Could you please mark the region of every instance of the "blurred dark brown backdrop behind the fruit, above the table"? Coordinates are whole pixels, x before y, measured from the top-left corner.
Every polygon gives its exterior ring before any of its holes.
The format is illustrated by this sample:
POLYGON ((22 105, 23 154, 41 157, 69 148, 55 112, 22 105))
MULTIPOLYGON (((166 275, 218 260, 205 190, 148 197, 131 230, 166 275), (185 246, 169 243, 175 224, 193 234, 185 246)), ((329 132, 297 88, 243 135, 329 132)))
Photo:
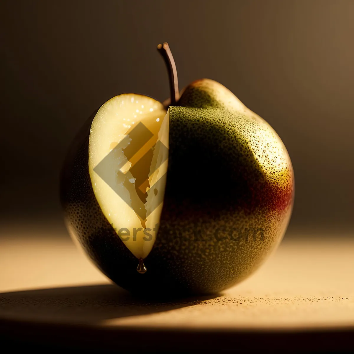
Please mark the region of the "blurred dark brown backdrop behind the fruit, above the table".
POLYGON ((291 228, 353 229, 354 1, 2 1, 0 16, 3 219, 61 220, 70 141, 112 96, 168 96, 168 41, 181 88, 221 82, 284 141, 291 228))

